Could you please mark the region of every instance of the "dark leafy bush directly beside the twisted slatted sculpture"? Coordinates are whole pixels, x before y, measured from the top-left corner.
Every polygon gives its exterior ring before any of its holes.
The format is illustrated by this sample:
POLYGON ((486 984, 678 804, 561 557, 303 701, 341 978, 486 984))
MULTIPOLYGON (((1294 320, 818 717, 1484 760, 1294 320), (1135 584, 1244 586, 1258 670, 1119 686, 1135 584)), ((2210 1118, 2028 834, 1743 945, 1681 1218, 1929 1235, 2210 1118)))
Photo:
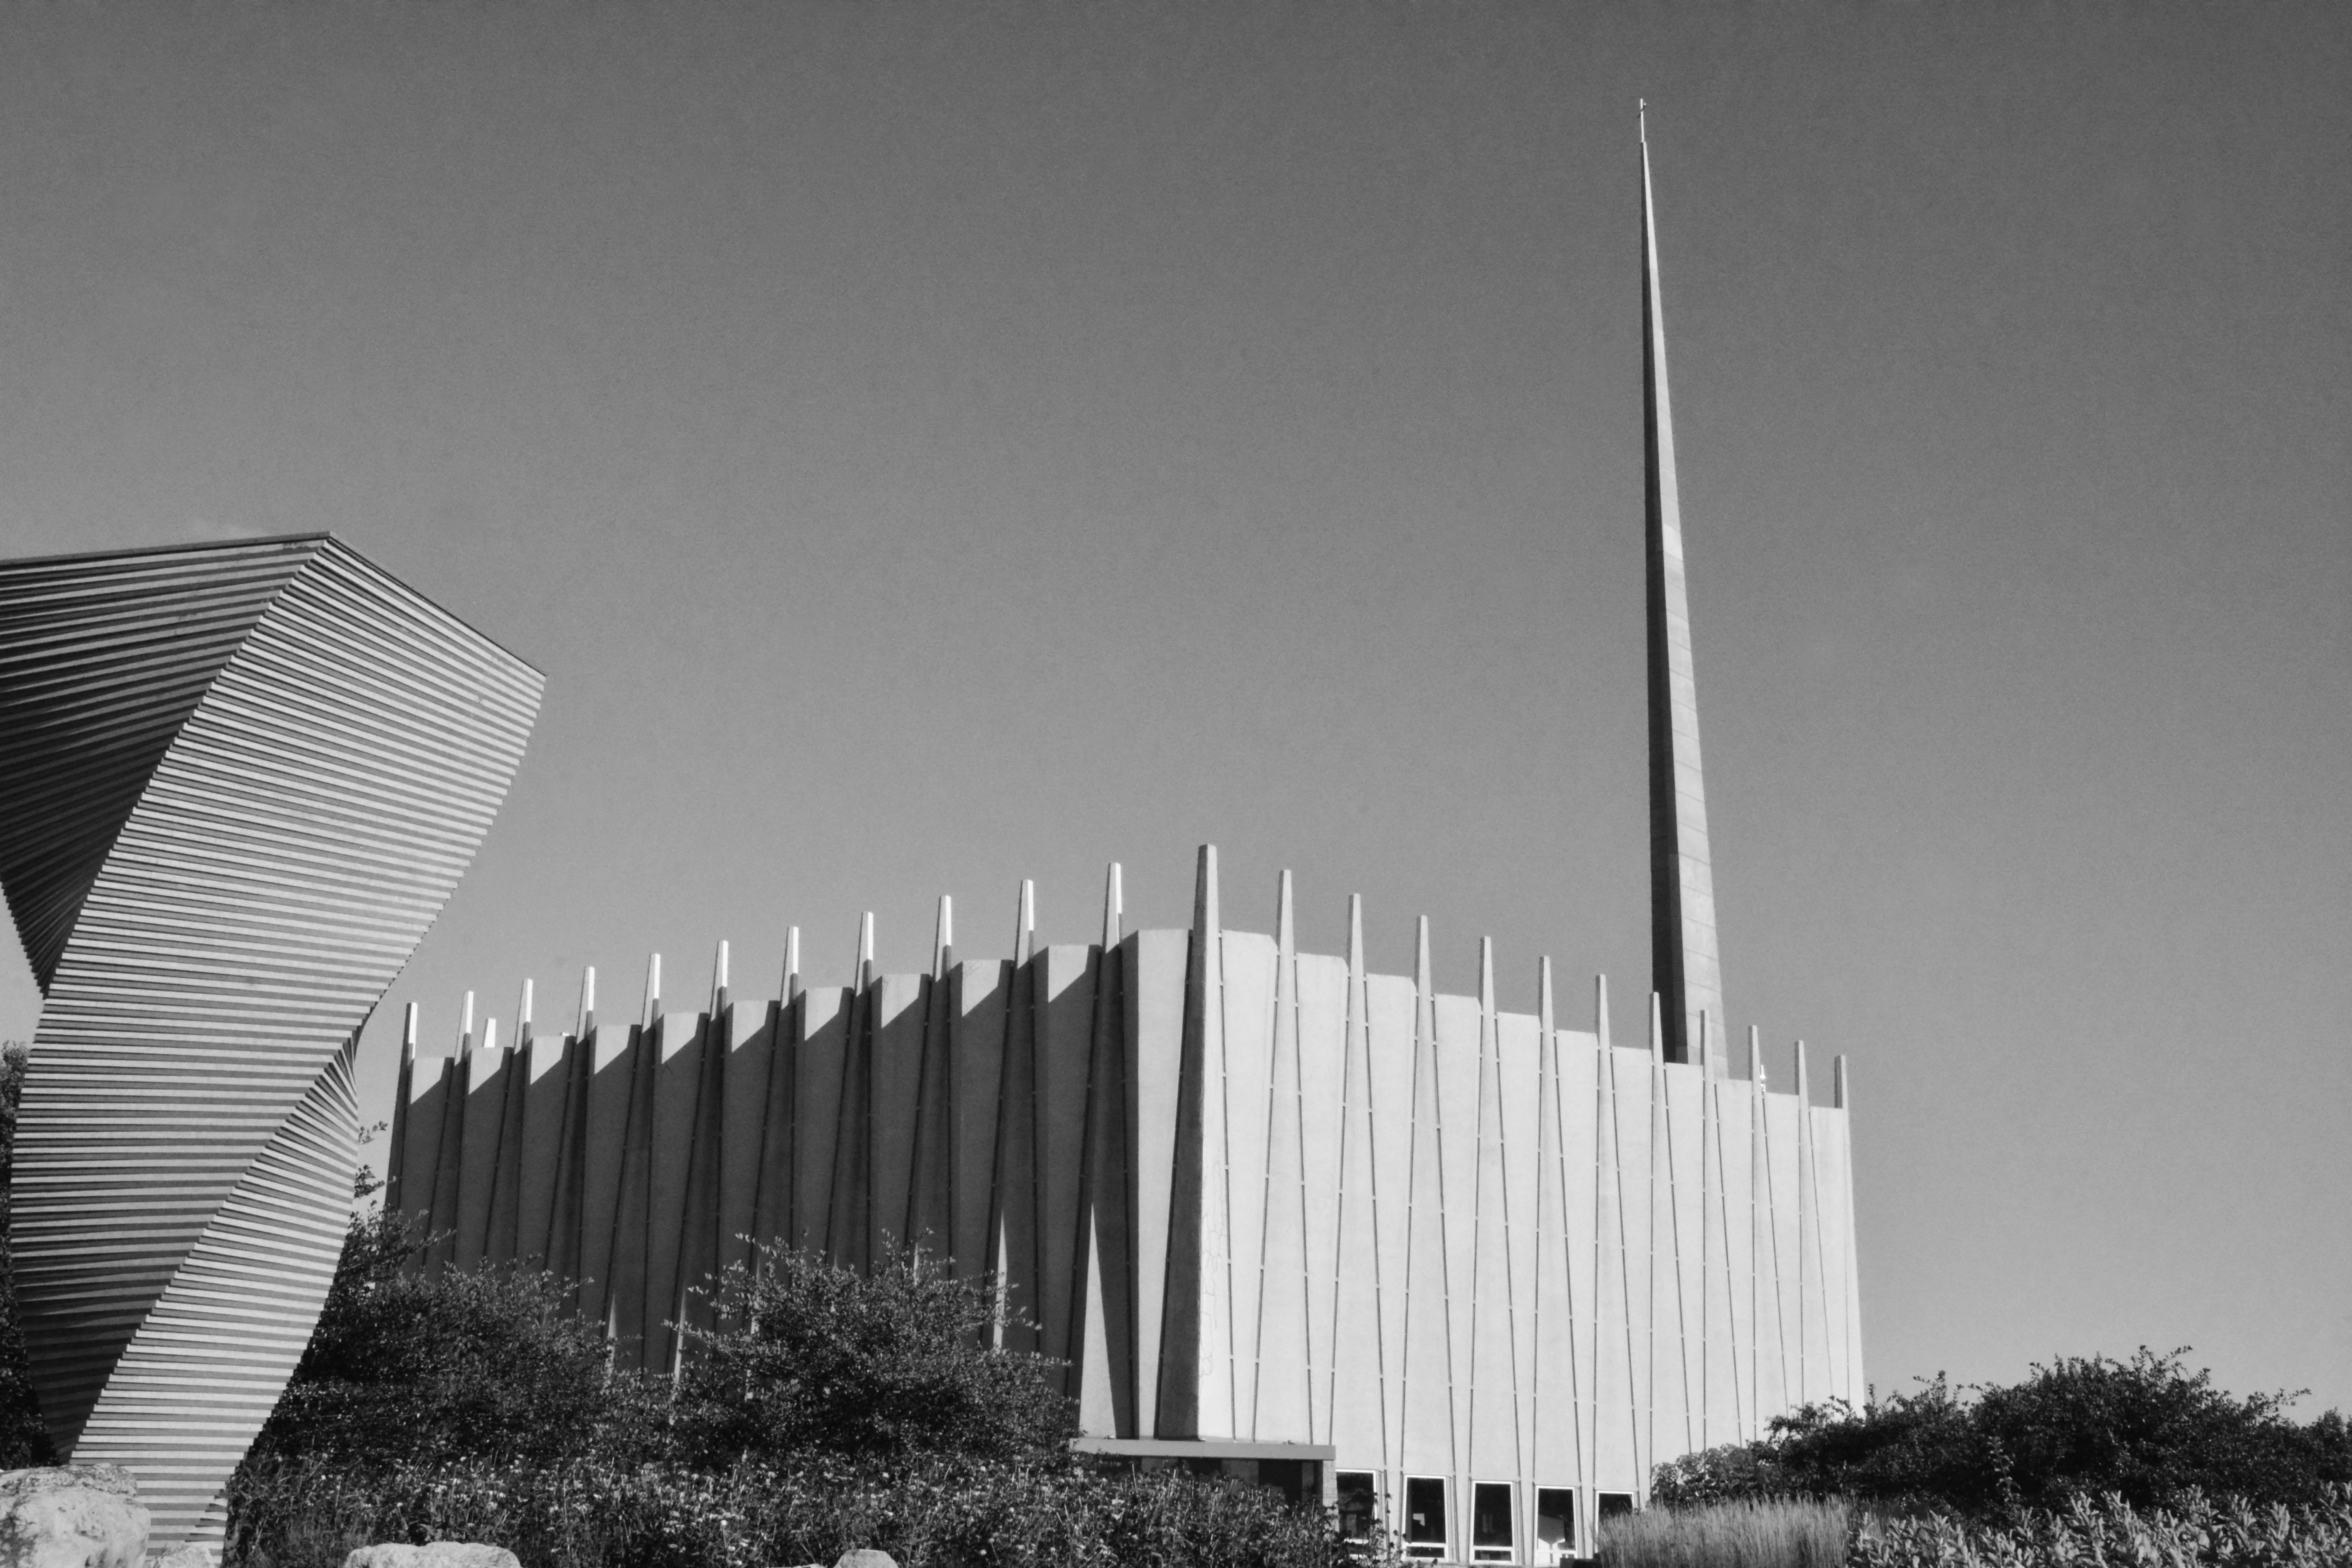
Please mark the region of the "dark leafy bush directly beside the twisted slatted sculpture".
POLYGON ((402 1274, 426 1237, 353 1218, 318 1328, 254 1462, 555 1460, 644 1450, 659 1394, 614 1378, 604 1335, 548 1274, 402 1274))

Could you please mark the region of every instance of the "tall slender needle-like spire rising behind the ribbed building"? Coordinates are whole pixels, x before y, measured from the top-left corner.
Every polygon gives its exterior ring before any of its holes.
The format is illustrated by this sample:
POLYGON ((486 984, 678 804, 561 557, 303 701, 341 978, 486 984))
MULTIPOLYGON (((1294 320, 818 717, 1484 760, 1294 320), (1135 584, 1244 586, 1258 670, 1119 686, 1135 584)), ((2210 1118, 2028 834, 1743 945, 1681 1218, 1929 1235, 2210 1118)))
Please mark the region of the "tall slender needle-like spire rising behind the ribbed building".
POLYGON ((1649 552, 1649 966, 1665 1011, 1665 1060, 1705 1051, 1722 1074, 1724 983, 1715 954, 1715 870, 1708 792, 1698 776, 1698 682, 1682 569, 1675 416, 1665 393, 1665 310, 1658 299, 1658 212, 1642 118, 1642 491, 1649 552), (1710 1016, 1700 1025, 1700 1016, 1710 1016))

